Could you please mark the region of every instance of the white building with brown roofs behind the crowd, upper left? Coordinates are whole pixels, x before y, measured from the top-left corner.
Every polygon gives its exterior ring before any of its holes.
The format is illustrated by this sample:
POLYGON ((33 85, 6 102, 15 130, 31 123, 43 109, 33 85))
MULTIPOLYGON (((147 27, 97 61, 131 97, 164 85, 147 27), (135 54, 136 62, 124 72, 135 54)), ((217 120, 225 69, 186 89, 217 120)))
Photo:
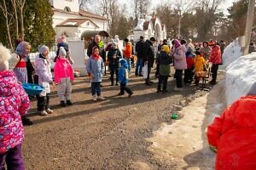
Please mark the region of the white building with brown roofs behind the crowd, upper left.
POLYGON ((56 37, 66 35, 67 40, 84 39, 89 32, 107 32, 108 19, 99 14, 81 10, 79 0, 49 0, 54 16, 56 37))

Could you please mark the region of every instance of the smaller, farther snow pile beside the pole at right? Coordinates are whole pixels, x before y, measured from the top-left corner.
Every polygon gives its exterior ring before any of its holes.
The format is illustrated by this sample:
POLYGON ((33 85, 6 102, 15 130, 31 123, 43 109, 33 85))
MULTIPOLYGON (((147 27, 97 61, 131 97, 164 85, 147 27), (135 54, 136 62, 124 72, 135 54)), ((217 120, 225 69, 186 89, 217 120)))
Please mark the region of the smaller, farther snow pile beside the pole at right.
POLYGON ((239 42, 239 37, 236 38, 234 42, 231 42, 226 48, 224 48, 223 53, 223 65, 227 67, 234 60, 239 58, 242 55, 241 46, 239 42))

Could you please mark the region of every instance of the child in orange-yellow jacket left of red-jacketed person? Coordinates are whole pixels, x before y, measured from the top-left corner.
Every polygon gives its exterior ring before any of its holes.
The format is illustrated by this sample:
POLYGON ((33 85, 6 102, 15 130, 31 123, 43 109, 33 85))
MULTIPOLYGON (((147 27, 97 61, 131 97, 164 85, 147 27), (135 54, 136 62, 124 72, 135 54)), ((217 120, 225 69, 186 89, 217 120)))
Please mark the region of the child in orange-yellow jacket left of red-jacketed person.
POLYGON ((200 81, 200 77, 198 77, 198 72, 204 71, 206 65, 206 59, 201 55, 199 51, 195 51, 194 58, 194 67, 195 67, 195 85, 197 86, 200 81))

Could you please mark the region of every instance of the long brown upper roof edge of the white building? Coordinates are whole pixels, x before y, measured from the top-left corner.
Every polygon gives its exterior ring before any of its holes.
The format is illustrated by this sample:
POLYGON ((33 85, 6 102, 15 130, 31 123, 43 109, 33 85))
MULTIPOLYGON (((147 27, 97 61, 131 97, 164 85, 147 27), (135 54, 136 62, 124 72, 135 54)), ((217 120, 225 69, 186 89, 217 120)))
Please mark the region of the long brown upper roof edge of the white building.
POLYGON ((84 11, 82 9, 80 9, 79 12, 73 12, 73 11, 67 12, 64 9, 53 8, 53 11, 59 12, 59 13, 64 13, 64 14, 74 14, 74 15, 84 16, 84 17, 88 17, 88 18, 95 18, 95 19, 100 19, 100 20, 108 20, 107 18, 102 17, 99 14, 93 14, 88 11, 84 11))

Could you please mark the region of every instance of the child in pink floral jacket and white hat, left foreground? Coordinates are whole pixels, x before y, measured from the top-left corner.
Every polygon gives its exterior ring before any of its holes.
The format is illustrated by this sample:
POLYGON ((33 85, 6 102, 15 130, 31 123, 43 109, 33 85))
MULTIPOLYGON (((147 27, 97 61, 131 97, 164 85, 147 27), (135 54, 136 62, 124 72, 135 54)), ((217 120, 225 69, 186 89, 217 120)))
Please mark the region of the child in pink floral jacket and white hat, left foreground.
POLYGON ((18 83, 14 71, 9 70, 9 49, 0 45, 0 169, 24 170, 21 144, 24 129, 21 116, 28 111, 29 99, 18 83))

